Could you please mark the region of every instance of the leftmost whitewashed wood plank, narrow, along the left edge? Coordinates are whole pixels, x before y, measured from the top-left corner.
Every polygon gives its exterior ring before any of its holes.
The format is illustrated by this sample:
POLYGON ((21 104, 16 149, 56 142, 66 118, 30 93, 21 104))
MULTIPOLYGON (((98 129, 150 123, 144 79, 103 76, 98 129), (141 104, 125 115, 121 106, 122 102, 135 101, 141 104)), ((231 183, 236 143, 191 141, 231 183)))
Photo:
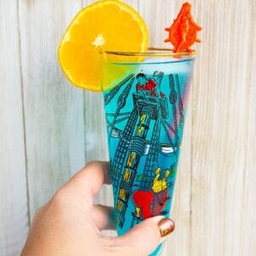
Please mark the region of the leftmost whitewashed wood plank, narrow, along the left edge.
POLYGON ((18 255, 28 230, 18 7, 0 1, 0 255, 18 255))

